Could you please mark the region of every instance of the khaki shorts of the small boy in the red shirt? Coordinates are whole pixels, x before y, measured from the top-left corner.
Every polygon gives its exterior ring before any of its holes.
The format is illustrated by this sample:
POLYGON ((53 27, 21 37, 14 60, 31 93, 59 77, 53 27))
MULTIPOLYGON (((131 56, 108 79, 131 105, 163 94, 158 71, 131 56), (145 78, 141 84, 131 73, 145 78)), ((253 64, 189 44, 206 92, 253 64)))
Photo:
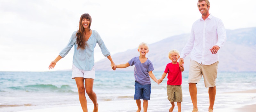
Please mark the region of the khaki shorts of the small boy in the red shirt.
POLYGON ((167 96, 170 102, 182 102, 182 90, 181 85, 168 85, 167 84, 167 96))

